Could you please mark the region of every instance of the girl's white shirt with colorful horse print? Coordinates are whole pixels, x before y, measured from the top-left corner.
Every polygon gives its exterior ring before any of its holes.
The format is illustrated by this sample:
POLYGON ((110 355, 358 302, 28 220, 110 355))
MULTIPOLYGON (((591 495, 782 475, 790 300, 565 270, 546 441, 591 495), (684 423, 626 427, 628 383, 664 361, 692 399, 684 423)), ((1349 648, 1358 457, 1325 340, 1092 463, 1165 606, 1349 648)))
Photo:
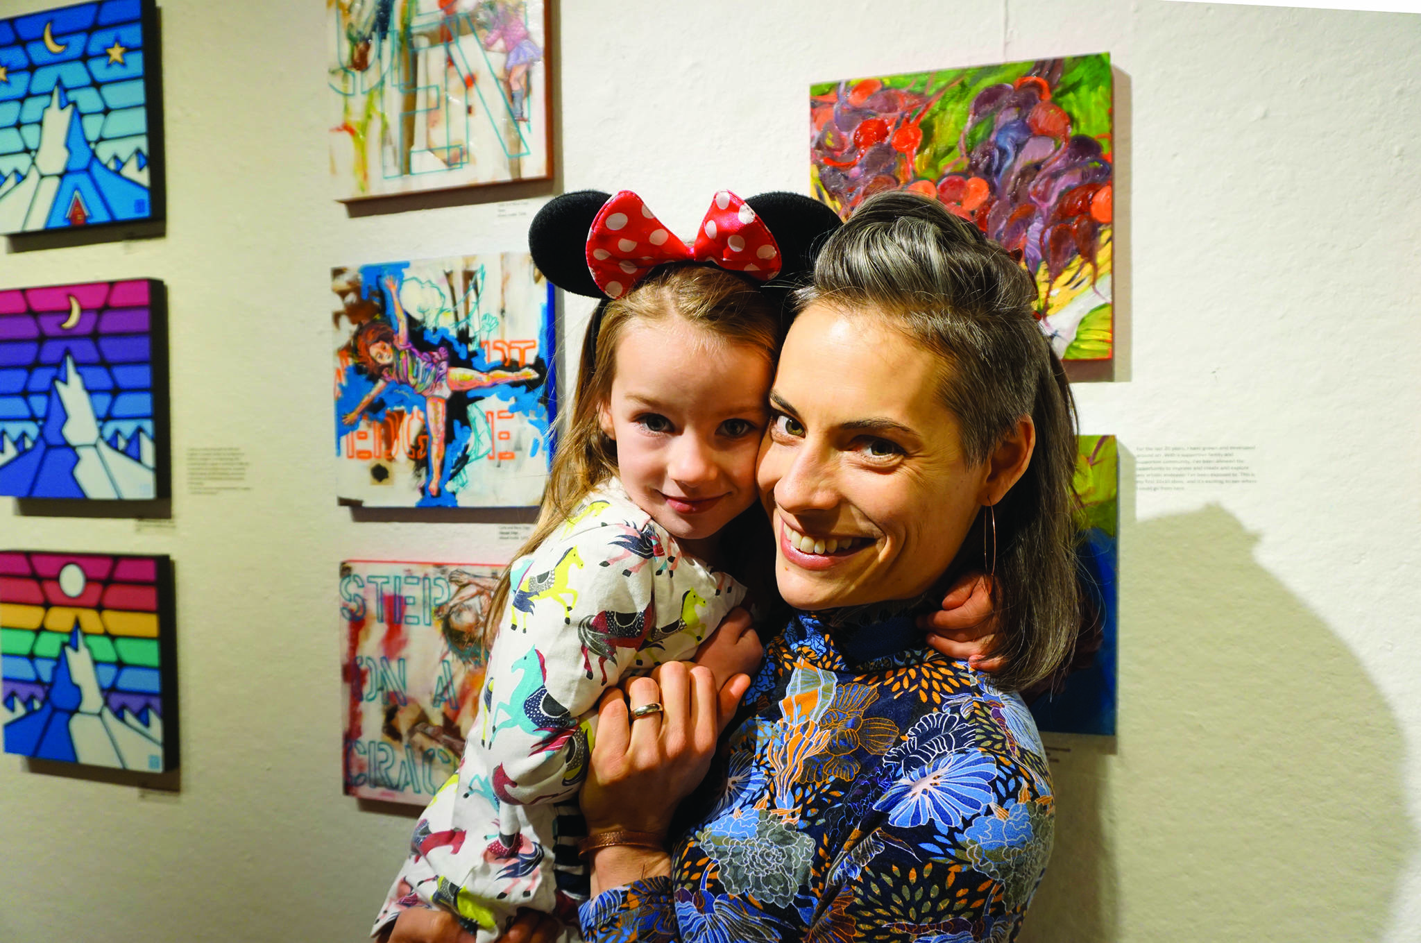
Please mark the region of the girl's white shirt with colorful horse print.
POLYGON ((556 805, 576 801, 587 775, 598 699, 691 659, 745 599, 728 574, 684 557, 615 480, 513 561, 510 584, 463 760, 419 818, 375 933, 428 905, 453 910, 480 943, 520 907, 577 926, 578 822, 556 805))

